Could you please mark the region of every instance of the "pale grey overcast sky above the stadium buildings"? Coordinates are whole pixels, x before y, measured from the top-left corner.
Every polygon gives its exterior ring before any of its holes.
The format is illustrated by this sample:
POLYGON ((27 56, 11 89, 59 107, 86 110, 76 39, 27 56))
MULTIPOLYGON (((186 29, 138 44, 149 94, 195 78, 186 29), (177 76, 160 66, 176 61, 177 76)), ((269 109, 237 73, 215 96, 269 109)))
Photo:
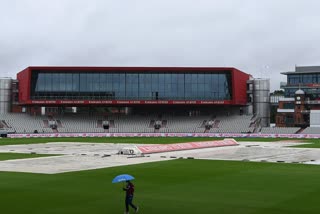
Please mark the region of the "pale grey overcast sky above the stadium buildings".
POLYGON ((320 65, 318 0, 0 0, 0 76, 28 66, 320 65))

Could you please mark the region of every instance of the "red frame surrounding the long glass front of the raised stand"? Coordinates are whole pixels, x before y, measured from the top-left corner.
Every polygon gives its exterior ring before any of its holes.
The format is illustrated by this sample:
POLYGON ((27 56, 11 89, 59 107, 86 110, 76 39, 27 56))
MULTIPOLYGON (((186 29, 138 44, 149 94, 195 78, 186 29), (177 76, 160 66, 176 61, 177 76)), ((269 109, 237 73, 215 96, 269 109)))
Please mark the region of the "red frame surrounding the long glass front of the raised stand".
POLYGON ((250 75, 231 67, 28 67, 17 74, 20 105, 246 105, 250 75), (231 72, 232 100, 31 100, 32 71, 48 72, 231 72))

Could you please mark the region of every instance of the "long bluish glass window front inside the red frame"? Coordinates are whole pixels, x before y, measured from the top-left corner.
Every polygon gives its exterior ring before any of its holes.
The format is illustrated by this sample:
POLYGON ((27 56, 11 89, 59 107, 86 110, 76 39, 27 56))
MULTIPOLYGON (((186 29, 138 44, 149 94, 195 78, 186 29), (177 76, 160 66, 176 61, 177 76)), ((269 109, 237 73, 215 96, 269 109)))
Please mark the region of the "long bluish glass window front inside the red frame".
POLYGON ((231 72, 33 72, 38 100, 231 100, 231 72))

